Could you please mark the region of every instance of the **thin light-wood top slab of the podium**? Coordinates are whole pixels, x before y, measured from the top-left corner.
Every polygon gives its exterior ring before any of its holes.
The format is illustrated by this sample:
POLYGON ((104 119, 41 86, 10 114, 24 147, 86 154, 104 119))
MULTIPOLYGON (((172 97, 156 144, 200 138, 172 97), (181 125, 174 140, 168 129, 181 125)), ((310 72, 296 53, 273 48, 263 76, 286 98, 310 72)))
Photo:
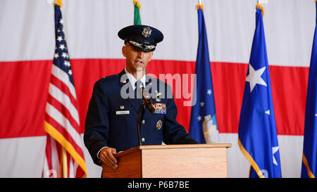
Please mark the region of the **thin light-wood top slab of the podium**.
POLYGON ((139 150, 153 150, 153 149, 175 149, 175 148, 230 148, 231 143, 213 143, 213 144, 185 144, 185 145, 154 145, 154 146, 137 146, 135 148, 130 148, 126 151, 120 151, 116 158, 123 156, 128 153, 133 153, 139 150))

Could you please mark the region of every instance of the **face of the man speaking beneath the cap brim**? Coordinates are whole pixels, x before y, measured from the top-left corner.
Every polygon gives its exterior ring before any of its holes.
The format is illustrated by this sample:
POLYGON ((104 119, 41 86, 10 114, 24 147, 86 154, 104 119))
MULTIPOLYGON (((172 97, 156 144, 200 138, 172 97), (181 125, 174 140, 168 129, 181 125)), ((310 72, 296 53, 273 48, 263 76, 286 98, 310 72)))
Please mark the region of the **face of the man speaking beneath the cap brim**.
POLYGON ((144 74, 147 64, 153 56, 153 51, 135 49, 130 44, 125 44, 125 46, 123 46, 122 53, 126 58, 125 68, 130 73, 142 71, 142 74, 144 74))

